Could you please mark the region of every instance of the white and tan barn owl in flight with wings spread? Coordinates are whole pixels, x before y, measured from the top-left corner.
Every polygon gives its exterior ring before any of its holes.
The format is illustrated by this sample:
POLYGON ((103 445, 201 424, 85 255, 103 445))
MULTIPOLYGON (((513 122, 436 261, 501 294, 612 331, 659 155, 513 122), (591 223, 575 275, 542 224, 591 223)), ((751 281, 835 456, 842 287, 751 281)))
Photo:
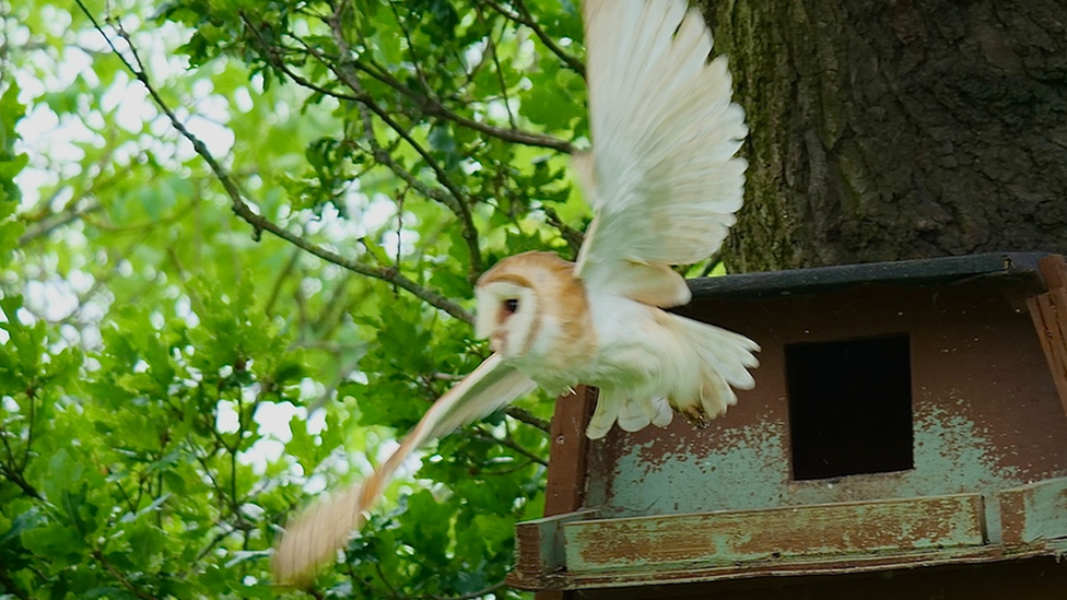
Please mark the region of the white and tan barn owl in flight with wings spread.
POLYGON ((476 333, 493 354, 438 399, 362 484, 313 506, 288 527, 274 556, 281 579, 302 580, 336 555, 391 474, 427 440, 536 386, 600 389, 593 439, 667 426, 675 411, 697 426, 750 389, 751 340, 672 315, 690 291, 671 264, 711 256, 741 207, 748 133, 730 99, 725 57, 685 0, 585 0, 593 150, 574 168, 595 216, 577 261, 550 252, 506 258, 476 286, 476 333))

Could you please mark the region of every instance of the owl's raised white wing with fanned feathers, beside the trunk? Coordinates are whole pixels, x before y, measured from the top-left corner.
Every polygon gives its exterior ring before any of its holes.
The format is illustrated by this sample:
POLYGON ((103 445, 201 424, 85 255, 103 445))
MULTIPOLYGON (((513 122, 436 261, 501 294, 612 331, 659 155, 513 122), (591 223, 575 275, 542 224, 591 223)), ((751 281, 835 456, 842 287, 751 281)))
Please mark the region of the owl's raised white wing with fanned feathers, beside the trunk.
POLYGON ((670 264, 715 252, 743 201, 748 133, 726 58, 685 0, 585 0, 595 210, 577 277, 655 306, 689 302, 670 264))

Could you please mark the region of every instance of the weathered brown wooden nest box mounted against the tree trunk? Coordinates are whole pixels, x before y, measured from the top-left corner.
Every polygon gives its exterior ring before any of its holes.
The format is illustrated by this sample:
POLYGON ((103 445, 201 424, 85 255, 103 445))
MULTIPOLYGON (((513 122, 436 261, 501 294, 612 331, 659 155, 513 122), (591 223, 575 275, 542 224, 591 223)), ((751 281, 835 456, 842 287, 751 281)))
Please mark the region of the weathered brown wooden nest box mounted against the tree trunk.
POLYGON ((1065 598, 1067 268, 996 254, 691 282, 763 348, 706 430, 561 399, 538 598, 1065 598), (723 596, 718 596, 722 593, 723 596))

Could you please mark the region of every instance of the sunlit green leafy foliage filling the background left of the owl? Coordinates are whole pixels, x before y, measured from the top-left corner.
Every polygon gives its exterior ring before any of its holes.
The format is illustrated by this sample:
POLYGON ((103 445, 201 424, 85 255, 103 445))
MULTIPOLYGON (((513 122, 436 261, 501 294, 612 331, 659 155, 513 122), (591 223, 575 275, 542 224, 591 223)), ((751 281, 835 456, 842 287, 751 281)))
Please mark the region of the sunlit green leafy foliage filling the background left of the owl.
POLYGON ((85 5, 210 156, 77 4, 0 1, 0 599, 518 597, 547 398, 427 448, 312 589, 269 553, 484 358, 481 271, 573 256, 576 3, 85 5))

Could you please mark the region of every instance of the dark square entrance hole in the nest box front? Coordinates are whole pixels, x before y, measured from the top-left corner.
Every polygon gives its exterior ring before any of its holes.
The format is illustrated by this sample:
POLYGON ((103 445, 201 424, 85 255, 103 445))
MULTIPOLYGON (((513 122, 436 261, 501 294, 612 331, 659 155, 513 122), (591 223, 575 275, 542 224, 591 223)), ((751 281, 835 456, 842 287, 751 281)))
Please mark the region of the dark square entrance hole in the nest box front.
POLYGON ((914 467, 907 334, 785 349, 793 478, 914 467))

